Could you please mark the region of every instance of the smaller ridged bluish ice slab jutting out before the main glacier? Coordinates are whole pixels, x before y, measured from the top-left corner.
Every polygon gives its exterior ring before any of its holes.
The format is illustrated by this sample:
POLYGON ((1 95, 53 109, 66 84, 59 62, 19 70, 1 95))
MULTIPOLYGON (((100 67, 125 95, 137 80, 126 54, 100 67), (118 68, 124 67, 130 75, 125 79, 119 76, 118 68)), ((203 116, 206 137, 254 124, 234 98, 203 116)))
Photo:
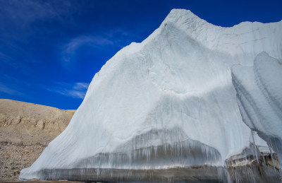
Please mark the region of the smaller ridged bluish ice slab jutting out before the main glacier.
POLYGON ((282 167, 282 61, 262 52, 254 66, 232 67, 243 122, 278 155, 282 167))

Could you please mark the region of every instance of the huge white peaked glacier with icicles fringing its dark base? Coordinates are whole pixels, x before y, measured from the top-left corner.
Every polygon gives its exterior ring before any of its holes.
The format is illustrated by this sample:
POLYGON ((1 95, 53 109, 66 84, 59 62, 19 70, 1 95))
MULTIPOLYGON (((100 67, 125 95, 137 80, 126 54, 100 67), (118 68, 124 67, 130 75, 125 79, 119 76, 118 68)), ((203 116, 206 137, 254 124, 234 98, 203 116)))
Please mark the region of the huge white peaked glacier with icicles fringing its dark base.
MULTIPOLYGON (((269 148, 243 122, 231 67, 253 66, 261 52, 281 60, 281 30, 282 21, 222 28, 173 9, 152 35, 94 75, 66 130, 19 179, 238 180, 226 162, 269 148)), ((279 179, 272 167, 264 172, 279 179)))

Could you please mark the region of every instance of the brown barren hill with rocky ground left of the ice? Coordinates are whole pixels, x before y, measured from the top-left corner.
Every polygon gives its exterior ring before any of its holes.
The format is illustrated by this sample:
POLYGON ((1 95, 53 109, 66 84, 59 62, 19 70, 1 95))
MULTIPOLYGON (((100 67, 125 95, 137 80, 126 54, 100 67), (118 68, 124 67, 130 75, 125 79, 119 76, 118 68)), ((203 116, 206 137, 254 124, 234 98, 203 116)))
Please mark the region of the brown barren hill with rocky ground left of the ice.
POLYGON ((0 182, 18 179, 48 143, 66 129, 75 110, 0 99, 0 182))

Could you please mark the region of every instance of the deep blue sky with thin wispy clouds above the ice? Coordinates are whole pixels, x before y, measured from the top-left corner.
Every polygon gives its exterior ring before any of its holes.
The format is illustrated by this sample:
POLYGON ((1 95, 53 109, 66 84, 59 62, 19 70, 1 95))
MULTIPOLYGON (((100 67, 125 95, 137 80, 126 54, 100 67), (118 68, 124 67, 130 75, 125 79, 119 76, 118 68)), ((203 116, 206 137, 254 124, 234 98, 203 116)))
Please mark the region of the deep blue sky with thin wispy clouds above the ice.
POLYGON ((106 61, 172 8, 224 27, 282 20, 281 0, 0 0, 0 98, 77 109, 106 61))

